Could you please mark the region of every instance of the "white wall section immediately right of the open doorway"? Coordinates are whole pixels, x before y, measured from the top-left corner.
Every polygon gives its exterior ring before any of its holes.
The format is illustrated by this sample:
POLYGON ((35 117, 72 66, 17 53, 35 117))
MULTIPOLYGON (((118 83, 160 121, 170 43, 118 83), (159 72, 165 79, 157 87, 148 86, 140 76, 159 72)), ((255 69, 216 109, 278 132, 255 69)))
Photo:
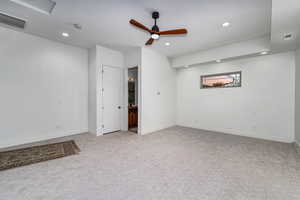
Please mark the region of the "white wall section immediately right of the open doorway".
POLYGON ((150 48, 142 48, 141 58, 141 134, 147 134, 175 125, 176 71, 150 48))

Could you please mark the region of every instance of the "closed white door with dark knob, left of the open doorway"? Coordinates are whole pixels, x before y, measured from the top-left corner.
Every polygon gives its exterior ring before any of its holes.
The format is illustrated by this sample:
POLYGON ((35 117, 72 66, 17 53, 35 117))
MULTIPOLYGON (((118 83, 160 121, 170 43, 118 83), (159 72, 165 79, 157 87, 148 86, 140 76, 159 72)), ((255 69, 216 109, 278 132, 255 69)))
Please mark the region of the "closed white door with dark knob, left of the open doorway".
POLYGON ((122 69, 103 66, 103 134, 121 130, 122 69))

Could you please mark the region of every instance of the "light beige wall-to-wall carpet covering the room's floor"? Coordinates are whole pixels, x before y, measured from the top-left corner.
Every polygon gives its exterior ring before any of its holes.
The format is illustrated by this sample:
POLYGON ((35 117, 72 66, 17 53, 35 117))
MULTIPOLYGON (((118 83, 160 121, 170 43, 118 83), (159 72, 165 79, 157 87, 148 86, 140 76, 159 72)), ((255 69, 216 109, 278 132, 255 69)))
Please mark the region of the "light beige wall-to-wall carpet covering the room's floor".
POLYGON ((300 199, 291 144, 182 127, 65 139, 81 153, 0 172, 0 199, 300 199))

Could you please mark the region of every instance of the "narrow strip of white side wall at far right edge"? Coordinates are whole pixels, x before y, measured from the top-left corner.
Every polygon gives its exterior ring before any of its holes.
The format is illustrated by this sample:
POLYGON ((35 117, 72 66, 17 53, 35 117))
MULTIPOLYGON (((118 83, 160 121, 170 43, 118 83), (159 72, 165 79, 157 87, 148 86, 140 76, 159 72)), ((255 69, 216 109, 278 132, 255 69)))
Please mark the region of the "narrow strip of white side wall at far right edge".
POLYGON ((295 140, 300 145, 300 49, 296 51, 295 140))

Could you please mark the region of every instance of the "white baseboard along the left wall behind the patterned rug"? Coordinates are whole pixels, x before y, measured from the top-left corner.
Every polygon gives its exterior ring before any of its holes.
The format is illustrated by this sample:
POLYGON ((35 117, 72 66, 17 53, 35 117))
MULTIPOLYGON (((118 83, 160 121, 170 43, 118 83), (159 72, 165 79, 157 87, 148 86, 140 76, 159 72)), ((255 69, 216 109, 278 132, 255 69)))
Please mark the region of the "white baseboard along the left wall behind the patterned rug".
POLYGON ((88 132, 88 129, 81 129, 81 130, 72 130, 72 131, 62 131, 62 132, 55 132, 55 133, 48 133, 48 134, 40 134, 35 136, 26 136, 23 138, 10 138, 10 140, 1 140, 0 141, 0 149, 18 146, 18 145, 24 145, 24 144, 30 144, 33 142, 40 142, 44 140, 50 140, 60 137, 66 137, 71 135, 77 135, 80 133, 86 133, 88 132))

